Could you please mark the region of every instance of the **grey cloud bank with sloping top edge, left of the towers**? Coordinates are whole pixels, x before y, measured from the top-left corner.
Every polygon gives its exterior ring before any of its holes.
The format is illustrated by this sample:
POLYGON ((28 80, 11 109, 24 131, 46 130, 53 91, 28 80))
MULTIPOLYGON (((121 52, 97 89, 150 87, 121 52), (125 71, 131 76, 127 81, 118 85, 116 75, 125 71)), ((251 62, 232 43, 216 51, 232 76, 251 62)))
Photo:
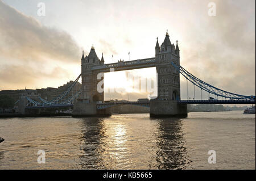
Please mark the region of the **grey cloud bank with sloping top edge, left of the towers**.
POLYGON ((43 26, 2 1, 0 12, 2 56, 23 62, 39 62, 47 58, 65 63, 79 60, 80 48, 67 32, 43 26))

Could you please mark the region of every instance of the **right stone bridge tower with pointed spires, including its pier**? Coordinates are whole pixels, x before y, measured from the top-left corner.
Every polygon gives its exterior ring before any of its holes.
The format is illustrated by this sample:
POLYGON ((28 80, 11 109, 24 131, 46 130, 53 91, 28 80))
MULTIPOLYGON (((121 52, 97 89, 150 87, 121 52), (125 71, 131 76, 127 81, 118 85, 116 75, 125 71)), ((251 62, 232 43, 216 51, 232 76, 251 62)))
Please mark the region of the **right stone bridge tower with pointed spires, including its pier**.
POLYGON ((171 62, 180 65, 180 50, 177 41, 176 47, 171 44, 168 31, 161 46, 159 46, 158 38, 156 39, 155 60, 158 97, 150 101, 150 116, 186 117, 187 105, 177 104, 177 100, 180 100, 180 75, 171 65, 171 62))

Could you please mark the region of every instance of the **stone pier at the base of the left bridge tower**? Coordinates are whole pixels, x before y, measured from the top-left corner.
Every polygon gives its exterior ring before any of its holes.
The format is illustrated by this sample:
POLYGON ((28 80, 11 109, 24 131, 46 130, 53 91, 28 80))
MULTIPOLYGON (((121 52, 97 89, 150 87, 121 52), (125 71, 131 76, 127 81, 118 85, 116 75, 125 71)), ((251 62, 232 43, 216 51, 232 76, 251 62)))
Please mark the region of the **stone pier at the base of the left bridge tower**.
POLYGON ((111 116, 110 108, 97 110, 96 103, 86 103, 85 99, 80 99, 74 105, 72 117, 108 117, 111 116))

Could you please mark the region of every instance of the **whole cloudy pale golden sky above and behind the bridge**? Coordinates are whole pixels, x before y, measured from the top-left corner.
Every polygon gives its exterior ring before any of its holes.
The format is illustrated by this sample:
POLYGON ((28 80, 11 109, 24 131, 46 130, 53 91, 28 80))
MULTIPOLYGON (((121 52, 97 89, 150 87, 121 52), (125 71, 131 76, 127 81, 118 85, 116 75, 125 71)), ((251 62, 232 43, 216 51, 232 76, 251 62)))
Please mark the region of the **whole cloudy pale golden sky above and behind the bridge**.
MULTIPOLYGON (((75 80, 81 52, 88 54, 92 44, 106 64, 129 60, 128 52, 130 60, 154 57, 156 37, 161 44, 167 30, 171 43, 179 41, 183 68, 220 89, 255 95, 254 0, 0 0, 0 90, 58 87, 75 80), (40 2, 45 16, 38 15, 40 2), (216 16, 208 15, 210 2, 216 4, 216 16)), ((156 78, 155 68, 129 73, 156 78)), ((126 90, 105 99, 148 96, 131 89, 126 74, 105 74, 105 89, 126 90)), ((181 99, 187 98, 182 75, 180 81, 181 99)))

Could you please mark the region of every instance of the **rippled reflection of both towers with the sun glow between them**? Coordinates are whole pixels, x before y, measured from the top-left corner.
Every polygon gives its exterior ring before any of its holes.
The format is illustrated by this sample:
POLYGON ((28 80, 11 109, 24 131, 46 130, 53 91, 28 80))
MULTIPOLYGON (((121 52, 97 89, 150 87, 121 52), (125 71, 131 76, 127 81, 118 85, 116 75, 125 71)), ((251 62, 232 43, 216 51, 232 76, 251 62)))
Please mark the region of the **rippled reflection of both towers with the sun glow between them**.
POLYGON ((189 163, 179 119, 81 120, 81 169, 185 169, 189 163))

